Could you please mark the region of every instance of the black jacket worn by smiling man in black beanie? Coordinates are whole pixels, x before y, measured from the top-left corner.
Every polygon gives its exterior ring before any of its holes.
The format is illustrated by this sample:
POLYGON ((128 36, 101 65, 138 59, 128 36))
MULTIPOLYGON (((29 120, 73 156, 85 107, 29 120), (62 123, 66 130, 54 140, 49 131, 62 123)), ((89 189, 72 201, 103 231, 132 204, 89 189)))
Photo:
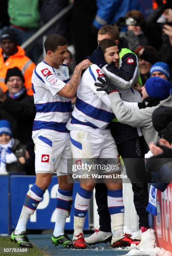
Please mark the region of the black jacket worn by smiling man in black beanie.
POLYGON ((35 105, 33 96, 26 93, 18 99, 8 97, 0 104, 0 119, 11 123, 14 138, 26 145, 32 140, 32 127, 35 118, 35 105))

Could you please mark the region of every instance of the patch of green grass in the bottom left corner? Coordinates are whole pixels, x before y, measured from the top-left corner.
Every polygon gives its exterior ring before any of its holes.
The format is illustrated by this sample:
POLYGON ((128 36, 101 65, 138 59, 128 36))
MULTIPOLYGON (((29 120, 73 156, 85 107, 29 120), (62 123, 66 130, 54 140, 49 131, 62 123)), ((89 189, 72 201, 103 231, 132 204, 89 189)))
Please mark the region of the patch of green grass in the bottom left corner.
MULTIPOLYGON (((0 256, 48 256, 48 253, 41 251, 38 249, 38 247, 33 246, 33 248, 28 248, 27 252, 22 253, 22 252, 5 252, 4 253, 4 248, 21 248, 18 247, 17 243, 11 242, 9 237, 0 237, 0 256)), ((12 251, 12 250, 11 250, 12 251)))

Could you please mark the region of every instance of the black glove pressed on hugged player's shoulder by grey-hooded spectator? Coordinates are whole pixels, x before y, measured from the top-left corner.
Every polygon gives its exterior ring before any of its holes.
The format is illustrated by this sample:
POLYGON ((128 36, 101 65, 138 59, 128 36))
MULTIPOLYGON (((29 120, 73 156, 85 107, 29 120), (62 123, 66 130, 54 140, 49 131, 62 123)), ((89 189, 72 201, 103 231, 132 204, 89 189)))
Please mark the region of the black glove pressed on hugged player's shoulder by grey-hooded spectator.
POLYGON ((101 77, 97 77, 97 79, 99 80, 100 83, 95 83, 95 86, 99 86, 101 88, 97 88, 97 92, 99 91, 105 91, 107 92, 107 94, 110 94, 111 92, 118 92, 117 88, 110 83, 108 77, 106 76, 106 74, 104 74, 104 77, 106 80, 102 79, 101 77))

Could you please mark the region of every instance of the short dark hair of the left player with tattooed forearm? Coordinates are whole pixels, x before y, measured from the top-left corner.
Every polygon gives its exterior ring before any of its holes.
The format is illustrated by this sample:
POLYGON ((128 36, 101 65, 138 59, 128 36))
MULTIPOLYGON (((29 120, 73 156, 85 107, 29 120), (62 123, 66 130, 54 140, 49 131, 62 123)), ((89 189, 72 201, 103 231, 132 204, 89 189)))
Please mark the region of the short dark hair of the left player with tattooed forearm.
POLYGON ((66 44, 66 39, 63 36, 58 34, 51 34, 46 38, 46 41, 44 42, 44 48, 46 53, 47 51, 55 52, 58 46, 64 46, 66 44))

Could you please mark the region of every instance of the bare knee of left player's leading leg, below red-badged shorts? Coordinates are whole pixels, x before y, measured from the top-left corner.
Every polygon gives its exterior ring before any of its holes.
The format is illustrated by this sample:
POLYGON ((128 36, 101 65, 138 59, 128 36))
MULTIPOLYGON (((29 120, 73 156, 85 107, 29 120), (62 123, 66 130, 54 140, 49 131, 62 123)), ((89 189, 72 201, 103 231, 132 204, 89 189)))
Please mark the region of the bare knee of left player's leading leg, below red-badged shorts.
POLYGON ((35 184, 45 191, 51 183, 52 175, 51 173, 37 173, 35 184))

